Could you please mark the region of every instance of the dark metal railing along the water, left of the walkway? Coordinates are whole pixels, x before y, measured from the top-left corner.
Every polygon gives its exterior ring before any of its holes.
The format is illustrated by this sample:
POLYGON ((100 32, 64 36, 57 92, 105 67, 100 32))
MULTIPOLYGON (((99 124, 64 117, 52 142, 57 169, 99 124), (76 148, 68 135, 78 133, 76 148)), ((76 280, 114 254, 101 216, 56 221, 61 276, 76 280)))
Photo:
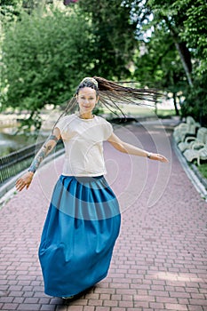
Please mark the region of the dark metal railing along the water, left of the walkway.
MULTIPOLYGON (((5 180, 10 179, 12 176, 17 175, 20 171, 27 169, 36 151, 38 151, 43 144, 44 141, 12 152, 12 154, 8 156, 0 157, 0 184, 4 183, 5 180)), ((63 148, 62 141, 58 142, 55 151, 60 150, 60 148, 63 148)))

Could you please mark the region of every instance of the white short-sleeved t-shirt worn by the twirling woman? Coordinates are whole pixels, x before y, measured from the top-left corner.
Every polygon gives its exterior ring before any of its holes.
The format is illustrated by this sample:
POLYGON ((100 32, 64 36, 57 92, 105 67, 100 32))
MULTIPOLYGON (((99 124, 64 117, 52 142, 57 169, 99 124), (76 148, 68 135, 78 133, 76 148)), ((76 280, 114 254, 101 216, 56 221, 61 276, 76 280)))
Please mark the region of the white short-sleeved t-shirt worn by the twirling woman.
POLYGON ((100 176, 107 173, 103 141, 113 132, 113 127, 100 116, 82 119, 76 114, 63 116, 58 124, 65 146, 62 174, 66 176, 100 176))

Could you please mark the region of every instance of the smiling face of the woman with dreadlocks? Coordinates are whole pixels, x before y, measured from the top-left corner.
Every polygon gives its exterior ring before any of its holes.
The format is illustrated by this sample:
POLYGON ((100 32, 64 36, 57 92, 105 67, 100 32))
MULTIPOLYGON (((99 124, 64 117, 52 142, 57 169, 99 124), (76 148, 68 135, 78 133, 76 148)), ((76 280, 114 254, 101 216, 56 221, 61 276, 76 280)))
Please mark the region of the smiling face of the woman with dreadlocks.
POLYGON ((99 97, 91 87, 84 87, 77 94, 77 102, 82 114, 92 112, 98 101, 99 97))

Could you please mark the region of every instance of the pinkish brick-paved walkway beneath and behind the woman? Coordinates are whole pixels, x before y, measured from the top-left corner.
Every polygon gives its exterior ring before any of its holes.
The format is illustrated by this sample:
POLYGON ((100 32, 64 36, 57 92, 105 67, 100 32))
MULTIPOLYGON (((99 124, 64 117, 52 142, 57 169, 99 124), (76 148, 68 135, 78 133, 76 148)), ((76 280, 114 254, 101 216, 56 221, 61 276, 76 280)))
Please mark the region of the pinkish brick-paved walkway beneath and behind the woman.
POLYGON ((171 124, 166 132, 150 123, 116 132, 171 162, 123 155, 106 143, 107 180, 123 211, 107 278, 68 303, 44 295, 37 249, 60 157, 0 211, 1 310, 207 310, 207 204, 171 150, 171 124))

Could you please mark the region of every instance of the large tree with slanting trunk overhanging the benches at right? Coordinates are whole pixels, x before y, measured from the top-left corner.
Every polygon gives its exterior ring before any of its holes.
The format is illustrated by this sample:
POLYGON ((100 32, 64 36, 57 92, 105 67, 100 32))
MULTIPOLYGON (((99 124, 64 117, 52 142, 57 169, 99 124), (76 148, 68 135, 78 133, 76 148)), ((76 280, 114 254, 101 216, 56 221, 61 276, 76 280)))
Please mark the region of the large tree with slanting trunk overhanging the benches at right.
MULTIPOLYGON (((131 16, 137 20, 138 39, 145 45, 155 40, 152 34, 157 29, 163 29, 166 37, 171 36, 179 55, 179 60, 176 56, 174 61, 178 67, 182 64, 188 84, 185 85, 183 78, 183 83, 179 85, 177 68, 171 67, 171 76, 175 77, 177 86, 186 97, 182 105, 183 116, 191 113, 202 124, 207 124, 205 108, 207 95, 204 86, 207 83, 206 2, 204 0, 125 0, 124 3, 131 7, 131 16)), ((162 49, 158 49, 157 54, 162 55, 161 51, 162 49)), ((165 56, 163 61, 164 59, 165 56)))

